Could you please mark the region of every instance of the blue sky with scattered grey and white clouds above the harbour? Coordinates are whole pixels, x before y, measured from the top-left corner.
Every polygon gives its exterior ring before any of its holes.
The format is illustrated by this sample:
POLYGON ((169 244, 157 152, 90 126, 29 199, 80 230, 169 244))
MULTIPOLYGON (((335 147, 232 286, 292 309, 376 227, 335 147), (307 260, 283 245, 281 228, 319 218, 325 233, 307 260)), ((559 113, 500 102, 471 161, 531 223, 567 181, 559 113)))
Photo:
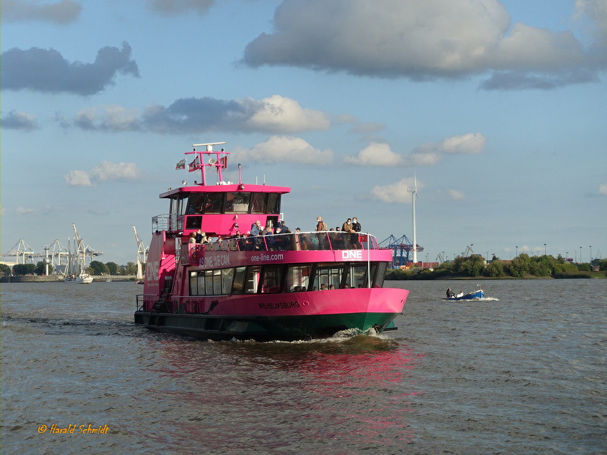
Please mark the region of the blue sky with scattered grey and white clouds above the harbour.
POLYGON ((135 261, 132 226, 149 244, 158 194, 196 178, 183 153, 226 141, 243 183, 291 187, 292 229, 412 238, 416 183, 418 260, 607 257, 605 0, 4 0, 1 20, 2 253, 75 223, 135 261))

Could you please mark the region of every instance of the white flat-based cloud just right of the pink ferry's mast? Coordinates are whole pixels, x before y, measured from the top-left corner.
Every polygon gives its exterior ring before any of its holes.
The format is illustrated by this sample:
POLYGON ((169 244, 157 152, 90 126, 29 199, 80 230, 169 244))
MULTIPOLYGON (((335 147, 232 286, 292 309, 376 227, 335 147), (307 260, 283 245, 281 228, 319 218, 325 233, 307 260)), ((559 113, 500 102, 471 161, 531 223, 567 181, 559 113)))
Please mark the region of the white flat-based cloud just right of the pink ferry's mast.
POLYGON ((271 136, 251 149, 235 147, 230 156, 242 161, 301 163, 310 166, 333 161, 331 149, 315 149, 303 139, 294 136, 271 136))

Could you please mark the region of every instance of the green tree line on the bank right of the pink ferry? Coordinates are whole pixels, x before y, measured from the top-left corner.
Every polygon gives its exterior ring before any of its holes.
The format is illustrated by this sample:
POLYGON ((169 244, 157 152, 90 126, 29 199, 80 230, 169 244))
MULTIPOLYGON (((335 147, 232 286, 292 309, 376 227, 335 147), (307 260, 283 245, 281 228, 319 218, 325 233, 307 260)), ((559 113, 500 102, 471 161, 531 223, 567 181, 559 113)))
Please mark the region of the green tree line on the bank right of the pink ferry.
POLYGON ((529 256, 521 254, 509 263, 498 257, 485 264, 481 256, 458 256, 452 262, 444 262, 430 271, 408 271, 389 269, 387 280, 437 279, 446 277, 486 277, 486 278, 607 278, 607 259, 592 261, 599 264, 599 272, 592 272, 590 263, 572 264, 561 255, 529 256))

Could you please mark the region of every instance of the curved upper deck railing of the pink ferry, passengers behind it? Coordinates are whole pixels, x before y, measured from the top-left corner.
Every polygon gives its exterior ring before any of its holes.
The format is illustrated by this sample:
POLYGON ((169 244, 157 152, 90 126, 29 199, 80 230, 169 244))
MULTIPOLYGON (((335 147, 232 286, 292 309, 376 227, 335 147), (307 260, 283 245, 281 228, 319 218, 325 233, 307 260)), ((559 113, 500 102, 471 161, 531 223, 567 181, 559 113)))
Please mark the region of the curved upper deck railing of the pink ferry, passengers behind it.
POLYGON ((380 249, 375 235, 358 232, 296 232, 234 237, 212 243, 181 245, 180 263, 196 263, 194 258, 206 251, 335 251, 344 249, 380 249))

